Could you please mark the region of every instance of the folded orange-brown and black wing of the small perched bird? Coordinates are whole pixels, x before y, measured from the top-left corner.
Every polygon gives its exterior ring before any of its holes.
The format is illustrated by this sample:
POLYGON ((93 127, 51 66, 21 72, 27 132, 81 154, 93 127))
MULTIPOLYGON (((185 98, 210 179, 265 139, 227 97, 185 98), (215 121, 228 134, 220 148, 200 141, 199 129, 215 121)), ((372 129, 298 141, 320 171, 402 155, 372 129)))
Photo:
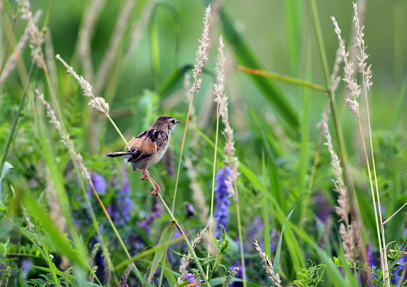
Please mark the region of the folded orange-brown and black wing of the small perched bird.
POLYGON ((157 152, 157 144, 152 141, 147 130, 135 138, 132 138, 126 145, 125 149, 132 153, 128 162, 141 162, 147 160, 157 152))

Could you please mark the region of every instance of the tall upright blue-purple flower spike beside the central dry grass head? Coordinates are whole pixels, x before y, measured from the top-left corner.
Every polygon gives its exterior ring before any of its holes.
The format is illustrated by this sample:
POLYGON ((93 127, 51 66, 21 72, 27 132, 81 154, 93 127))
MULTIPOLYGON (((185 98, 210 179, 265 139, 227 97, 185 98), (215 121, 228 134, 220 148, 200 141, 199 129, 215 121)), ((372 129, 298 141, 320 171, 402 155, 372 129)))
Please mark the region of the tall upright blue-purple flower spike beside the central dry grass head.
POLYGON ((215 176, 216 186, 216 212, 214 214, 216 220, 215 237, 220 238, 222 235, 222 226, 227 230, 229 226, 229 191, 227 190, 226 179, 231 176, 231 169, 224 167, 219 169, 215 176))

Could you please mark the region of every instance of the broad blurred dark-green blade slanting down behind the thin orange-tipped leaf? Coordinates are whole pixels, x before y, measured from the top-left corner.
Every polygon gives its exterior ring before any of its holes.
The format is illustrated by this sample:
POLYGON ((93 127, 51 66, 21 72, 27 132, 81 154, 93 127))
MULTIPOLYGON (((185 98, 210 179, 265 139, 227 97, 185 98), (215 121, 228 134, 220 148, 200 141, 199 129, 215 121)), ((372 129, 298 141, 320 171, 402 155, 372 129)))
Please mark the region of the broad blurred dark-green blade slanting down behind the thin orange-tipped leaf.
MULTIPOLYGON (((246 41, 243 39, 242 35, 240 35, 236 30, 224 9, 220 11, 220 20, 223 26, 225 38, 229 43, 232 44, 232 46, 234 46, 235 53, 239 61, 242 62, 243 65, 252 69, 266 70, 260 65, 254 52, 246 44, 246 41)), ((284 94, 280 88, 274 83, 274 81, 266 79, 265 77, 259 77, 251 74, 250 77, 264 94, 266 99, 276 109, 280 117, 284 119, 288 127, 297 132, 300 127, 298 115, 295 112, 292 104, 290 104, 284 97, 284 94)))

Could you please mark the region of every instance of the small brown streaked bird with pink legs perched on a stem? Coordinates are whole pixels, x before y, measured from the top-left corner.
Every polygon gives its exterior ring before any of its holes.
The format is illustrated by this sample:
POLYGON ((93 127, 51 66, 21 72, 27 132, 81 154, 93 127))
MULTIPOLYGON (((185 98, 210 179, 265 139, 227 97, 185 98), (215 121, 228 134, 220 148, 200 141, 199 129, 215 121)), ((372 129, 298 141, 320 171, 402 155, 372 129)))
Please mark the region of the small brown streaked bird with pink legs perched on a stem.
POLYGON ((132 138, 124 148, 124 151, 112 152, 105 154, 109 157, 123 156, 134 171, 142 171, 141 180, 150 179, 155 185, 151 192, 156 195, 161 192, 160 186, 150 177, 147 169, 157 164, 168 148, 171 132, 177 123, 181 120, 171 116, 160 116, 150 129, 142 132, 137 137, 132 138))

